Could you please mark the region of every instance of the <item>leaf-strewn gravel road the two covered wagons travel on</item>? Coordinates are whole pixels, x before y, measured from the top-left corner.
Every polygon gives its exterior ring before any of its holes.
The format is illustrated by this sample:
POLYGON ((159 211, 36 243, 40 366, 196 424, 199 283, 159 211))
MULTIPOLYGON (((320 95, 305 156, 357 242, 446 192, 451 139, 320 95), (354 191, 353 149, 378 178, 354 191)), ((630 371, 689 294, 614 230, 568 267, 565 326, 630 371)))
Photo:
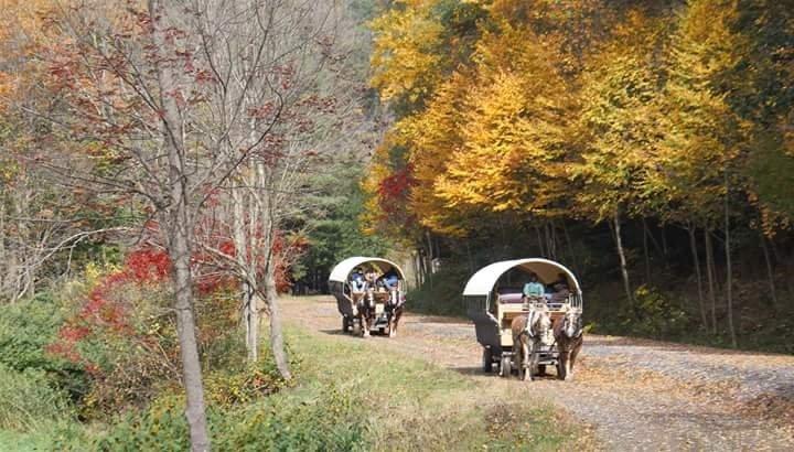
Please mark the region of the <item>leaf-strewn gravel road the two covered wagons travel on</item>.
MULTIPOLYGON (((345 341, 330 297, 286 298, 290 322, 345 341)), ((472 324, 407 314, 399 336, 366 341, 494 385, 523 385, 592 430, 597 449, 794 451, 794 356, 588 335, 572 381, 484 375, 472 324)), ((550 370, 554 374, 554 370, 550 370)))

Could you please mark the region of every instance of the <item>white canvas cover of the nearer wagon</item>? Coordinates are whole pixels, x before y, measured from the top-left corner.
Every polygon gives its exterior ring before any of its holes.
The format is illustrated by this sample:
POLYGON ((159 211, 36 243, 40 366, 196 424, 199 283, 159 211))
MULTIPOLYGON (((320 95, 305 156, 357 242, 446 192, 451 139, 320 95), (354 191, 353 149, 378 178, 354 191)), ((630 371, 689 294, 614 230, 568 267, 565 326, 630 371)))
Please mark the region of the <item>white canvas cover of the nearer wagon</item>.
POLYGON ((463 297, 487 297, 502 275, 514 268, 521 268, 526 272, 533 271, 544 282, 554 281, 557 279, 558 273, 565 273, 571 283, 571 292, 581 294, 579 281, 564 265, 555 262, 554 260, 532 258, 503 260, 481 268, 469 278, 469 282, 466 282, 463 289, 463 297))

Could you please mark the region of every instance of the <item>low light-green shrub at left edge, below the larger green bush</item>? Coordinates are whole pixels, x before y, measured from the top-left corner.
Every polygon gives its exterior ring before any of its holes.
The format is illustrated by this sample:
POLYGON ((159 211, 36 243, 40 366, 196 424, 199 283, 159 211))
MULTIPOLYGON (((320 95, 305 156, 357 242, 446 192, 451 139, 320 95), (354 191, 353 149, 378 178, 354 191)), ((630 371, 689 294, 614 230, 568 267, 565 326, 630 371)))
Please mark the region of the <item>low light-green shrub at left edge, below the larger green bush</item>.
POLYGON ((30 431, 73 417, 68 396, 51 386, 44 370, 0 364, 0 429, 30 431))

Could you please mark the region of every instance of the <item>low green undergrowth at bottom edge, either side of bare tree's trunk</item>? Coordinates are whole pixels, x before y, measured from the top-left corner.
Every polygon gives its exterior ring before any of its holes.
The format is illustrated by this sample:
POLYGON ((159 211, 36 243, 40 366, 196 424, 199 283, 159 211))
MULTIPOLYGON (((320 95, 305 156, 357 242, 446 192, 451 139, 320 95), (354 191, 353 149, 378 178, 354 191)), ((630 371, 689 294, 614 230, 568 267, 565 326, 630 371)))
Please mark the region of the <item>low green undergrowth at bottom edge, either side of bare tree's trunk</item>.
MULTIPOLYGON (((287 396, 245 406, 211 406, 207 410, 213 449, 218 451, 355 451, 362 450, 366 421, 361 403, 336 388, 324 388, 310 402, 287 396)), ((128 415, 95 442, 103 451, 189 450, 184 399, 155 400, 141 415, 128 415)))

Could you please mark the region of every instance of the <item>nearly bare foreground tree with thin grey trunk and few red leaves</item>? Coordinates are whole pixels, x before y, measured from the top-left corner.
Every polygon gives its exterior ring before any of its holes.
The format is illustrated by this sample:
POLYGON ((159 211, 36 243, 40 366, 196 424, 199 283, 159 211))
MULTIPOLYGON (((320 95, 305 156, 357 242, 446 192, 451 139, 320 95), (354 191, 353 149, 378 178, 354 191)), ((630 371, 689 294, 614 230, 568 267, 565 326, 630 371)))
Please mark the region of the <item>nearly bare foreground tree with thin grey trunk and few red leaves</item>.
POLYGON ((332 42, 324 11, 151 0, 146 8, 84 2, 51 17, 60 41, 41 57, 63 107, 40 114, 82 146, 72 150, 79 160, 47 164, 73 185, 148 202, 172 263, 194 450, 210 448, 193 312, 196 230, 216 191, 251 157, 281 152, 294 131, 289 120, 300 117, 318 68, 302 56, 329 55, 332 42), (86 162, 97 150, 116 165, 86 162))

